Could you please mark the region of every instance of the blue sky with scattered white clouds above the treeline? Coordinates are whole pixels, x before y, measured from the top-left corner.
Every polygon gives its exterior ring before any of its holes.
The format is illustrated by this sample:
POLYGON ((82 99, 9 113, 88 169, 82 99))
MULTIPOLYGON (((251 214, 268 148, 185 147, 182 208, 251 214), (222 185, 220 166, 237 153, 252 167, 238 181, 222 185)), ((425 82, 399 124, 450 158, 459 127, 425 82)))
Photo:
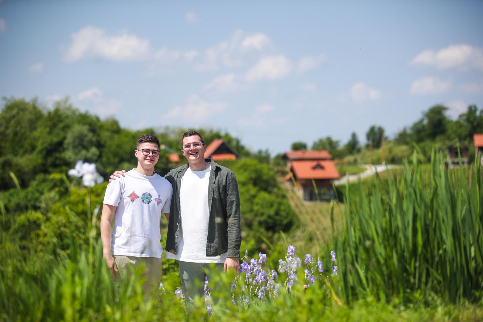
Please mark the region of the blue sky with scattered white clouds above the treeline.
POLYGON ((0 1, 0 96, 271 154, 483 108, 483 1, 0 1))

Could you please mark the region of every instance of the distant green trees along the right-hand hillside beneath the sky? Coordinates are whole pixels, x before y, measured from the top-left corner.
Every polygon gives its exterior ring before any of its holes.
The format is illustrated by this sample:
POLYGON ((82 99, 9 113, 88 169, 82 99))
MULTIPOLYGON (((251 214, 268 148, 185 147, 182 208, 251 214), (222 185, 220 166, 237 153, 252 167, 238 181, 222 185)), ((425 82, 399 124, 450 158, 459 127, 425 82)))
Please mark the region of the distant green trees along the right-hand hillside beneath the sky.
MULTIPOLYGON (((459 114, 456 120, 446 115, 447 110, 448 108, 443 105, 429 108, 423 112, 421 119, 411 126, 404 127, 394 138, 387 137, 382 126, 373 125, 366 132, 366 143, 361 143, 353 132, 350 140, 344 145, 341 145, 340 140, 327 136, 314 141, 311 149, 327 150, 334 158, 353 156, 365 163, 369 162, 368 150, 372 149, 374 155, 370 158, 379 159, 384 156, 388 162, 401 162, 404 157, 412 154, 414 148, 427 160, 432 148, 444 150, 456 144, 470 148, 472 153, 473 134, 483 133, 483 110, 478 111, 476 105, 469 105, 468 110, 459 114), (381 155, 382 152, 376 149, 381 148, 383 142, 387 151, 381 155)), ((292 144, 292 150, 307 148, 307 143, 303 141, 292 144)))

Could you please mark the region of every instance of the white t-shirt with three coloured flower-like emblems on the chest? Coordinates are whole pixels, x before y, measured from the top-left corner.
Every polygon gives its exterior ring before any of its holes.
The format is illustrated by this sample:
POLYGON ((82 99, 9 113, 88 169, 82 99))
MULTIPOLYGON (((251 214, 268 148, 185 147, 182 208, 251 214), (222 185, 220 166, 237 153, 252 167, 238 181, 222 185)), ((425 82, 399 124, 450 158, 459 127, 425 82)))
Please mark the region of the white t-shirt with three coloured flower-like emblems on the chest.
POLYGON ((145 176, 135 169, 107 185, 104 203, 116 206, 113 255, 161 258, 161 212, 170 212, 173 188, 158 174, 145 176))

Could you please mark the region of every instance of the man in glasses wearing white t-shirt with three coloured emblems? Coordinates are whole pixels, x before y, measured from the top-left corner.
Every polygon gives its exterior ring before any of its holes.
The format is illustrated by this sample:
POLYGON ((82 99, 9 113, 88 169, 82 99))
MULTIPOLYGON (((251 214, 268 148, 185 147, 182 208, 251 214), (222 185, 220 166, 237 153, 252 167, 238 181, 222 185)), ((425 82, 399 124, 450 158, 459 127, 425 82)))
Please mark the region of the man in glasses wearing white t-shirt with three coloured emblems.
POLYGON ((119 285, 134 267, 144 264, 143 290, 152 294, 161 280, 161 212, 168 218, 173 190, 170 182, 154 171, 159 159, 159 140, 154 135, 138 139, 134 156, 137 168, 107 185, 100 237, 113 280, 119 285))

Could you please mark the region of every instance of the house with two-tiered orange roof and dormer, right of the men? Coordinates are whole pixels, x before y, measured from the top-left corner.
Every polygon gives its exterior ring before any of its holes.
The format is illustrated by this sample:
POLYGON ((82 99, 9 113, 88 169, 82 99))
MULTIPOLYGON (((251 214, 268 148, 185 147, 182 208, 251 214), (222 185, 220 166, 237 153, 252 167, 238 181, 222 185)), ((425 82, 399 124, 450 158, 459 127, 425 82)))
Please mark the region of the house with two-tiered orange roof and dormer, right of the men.
POLYGON ((286 152, 287 160, 285 182, 291 184, 292 178, 306 201, 327 200, 334 198, 332 182, 339 179, 339 171, 335 167, 332 155, 325 150, 297 150, 286 152))

